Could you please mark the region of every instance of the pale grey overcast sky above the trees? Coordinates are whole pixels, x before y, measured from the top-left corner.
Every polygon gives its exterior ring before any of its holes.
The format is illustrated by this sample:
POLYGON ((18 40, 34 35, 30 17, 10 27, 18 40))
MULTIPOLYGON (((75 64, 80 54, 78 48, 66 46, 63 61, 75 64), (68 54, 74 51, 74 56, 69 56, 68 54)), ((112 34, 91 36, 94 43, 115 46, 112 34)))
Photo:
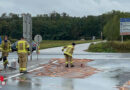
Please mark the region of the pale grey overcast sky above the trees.
POLYGON ((2 13, 48 14, 66 12, 70 16, 100 15, 120 10, 130 12, 130 0, 0 0, 2 13))

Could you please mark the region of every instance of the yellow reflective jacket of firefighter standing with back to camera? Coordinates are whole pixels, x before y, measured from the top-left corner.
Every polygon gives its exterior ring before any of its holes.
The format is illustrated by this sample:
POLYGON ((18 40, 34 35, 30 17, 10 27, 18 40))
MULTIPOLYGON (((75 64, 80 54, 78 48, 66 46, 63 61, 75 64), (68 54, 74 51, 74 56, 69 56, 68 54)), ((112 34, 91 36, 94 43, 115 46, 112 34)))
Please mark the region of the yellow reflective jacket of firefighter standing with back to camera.
POLYGON ((16 48, 18 53, 28 53, 29 44, 26 40, 19 40, 16 48))

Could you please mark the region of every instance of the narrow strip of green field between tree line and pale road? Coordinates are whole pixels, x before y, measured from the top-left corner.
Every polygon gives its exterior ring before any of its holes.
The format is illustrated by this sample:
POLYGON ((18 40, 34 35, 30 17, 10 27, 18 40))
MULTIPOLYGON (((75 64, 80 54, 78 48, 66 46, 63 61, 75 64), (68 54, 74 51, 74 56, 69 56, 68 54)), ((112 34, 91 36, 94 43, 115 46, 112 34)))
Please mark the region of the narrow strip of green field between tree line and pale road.
POLYGON ((81 44, 81 43, 88 43, 88 42, 95 42, 99 40, 43 40, 40 43, 40 49, 46 49, 46 48, 52 48, 52 47, 59 47, 59 46, 66 46, 71 44, 72 42, 76 44, 81 44))

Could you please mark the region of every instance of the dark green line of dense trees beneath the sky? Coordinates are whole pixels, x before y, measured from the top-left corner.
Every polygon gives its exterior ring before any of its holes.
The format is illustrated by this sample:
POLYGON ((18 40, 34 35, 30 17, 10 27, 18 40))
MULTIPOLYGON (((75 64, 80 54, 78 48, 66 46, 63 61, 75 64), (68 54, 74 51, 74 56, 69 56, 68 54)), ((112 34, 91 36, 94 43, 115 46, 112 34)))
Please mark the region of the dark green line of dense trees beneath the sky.
MULTIPOLYGON (((33 37, 40 34, 44 40, 80 40, 92 39, 92 36, 104 39, 120 39, 120 18, 130 17, 128 12, 111 11, 99 16, 72 17, 67 13, 39 14, 32 16, 33 37)), ((0 16, 0 35, 8 35, 13 39, 22 37, 23 19, 20 14, 0 16)), ((129 36, 125 37, 129 39, 129 36)))

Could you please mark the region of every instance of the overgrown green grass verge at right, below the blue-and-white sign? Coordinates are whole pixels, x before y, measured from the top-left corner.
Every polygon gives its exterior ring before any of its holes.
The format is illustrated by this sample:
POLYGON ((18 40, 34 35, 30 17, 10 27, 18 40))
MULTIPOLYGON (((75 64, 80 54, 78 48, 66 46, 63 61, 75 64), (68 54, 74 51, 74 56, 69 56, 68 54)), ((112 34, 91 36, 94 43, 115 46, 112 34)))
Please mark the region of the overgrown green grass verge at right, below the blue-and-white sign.
POLYGON ((96 43, 89 46, 88 50, 89 52, 123 52, 128 53, 130 52, 130 41, 125 42, 119 42, 119 41, 113 41, 113 42, 101 42, 96 43))

